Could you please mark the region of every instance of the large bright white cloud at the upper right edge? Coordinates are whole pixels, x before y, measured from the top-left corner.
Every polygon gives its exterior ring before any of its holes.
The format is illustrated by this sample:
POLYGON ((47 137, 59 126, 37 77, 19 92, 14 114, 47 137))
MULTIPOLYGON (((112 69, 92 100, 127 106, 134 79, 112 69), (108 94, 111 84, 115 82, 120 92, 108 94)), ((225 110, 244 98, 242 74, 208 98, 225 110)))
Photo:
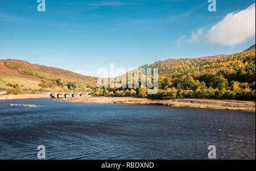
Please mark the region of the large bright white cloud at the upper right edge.
POLYGON ((210 43, 228 46, 240 44, 255 36, 255 3, 245 10, 226 15, 205 36, 210 43))

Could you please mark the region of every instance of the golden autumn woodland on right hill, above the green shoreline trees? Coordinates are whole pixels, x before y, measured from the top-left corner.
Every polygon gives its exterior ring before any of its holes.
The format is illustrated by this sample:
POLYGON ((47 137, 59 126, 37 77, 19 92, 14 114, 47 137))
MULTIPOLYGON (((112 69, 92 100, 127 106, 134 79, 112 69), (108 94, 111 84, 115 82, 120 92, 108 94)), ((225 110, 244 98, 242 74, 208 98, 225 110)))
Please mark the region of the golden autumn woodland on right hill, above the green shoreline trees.
POLYGON ((255 45, 244 52, 230 55, 167 59, 142 67, 158 67, 161 88, 176 87, 180 79, 189 75, 194 80, 204 82, 207 87, 216 88, 213 84, 218 83, 213 83, 213 79, 218 78, 229 83, 225 88, 232 86, 232 81, 237 81, 255 89, 255 45))

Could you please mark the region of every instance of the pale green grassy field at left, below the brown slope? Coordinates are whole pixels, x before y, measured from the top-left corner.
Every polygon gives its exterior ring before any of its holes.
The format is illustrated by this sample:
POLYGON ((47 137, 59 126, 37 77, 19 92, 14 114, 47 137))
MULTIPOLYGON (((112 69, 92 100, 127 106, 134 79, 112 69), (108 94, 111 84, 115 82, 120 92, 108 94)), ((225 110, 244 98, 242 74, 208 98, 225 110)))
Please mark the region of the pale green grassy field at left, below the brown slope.
POLYGON ((12 88, 10 86, 6 86, 7 83, 10 84, 19 84, 20 87, 27 89, 40 89, 38 86, 41 82, 36 82, 32 80, 27 80, 24 78, 13 77, 13 76, 0 76, 0 88, 12 88))

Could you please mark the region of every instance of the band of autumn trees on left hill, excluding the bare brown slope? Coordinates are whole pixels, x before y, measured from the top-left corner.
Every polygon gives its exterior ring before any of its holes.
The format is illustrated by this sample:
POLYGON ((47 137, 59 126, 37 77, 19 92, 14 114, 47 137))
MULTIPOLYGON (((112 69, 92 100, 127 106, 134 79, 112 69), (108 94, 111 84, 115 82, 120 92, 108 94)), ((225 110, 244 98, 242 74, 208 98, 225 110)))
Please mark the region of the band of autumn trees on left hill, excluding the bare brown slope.
POLYGON ((57 67, 32 64, 18 59, 5 59, 3 61, 5 66, 17 70, 20 74, 41 78, 43 81, 39 86, 42 88, 68 86, 69 89, 75 89, 95 87, 97 83, 96 77, 77 74, 57 67))

